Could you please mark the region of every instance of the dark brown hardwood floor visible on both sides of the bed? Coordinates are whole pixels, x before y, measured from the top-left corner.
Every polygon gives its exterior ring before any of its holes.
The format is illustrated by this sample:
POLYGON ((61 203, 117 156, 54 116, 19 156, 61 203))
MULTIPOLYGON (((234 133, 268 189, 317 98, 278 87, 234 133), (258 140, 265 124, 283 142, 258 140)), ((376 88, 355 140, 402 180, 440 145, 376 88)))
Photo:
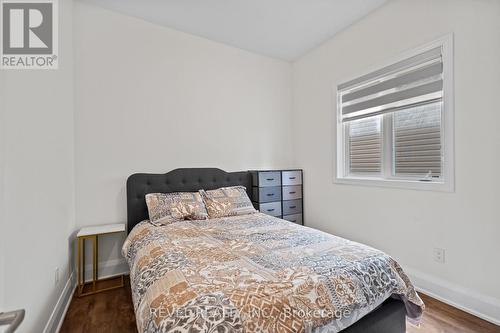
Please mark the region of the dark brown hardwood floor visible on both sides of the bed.
MULTIPOLYGON (((420 327, 408 325, 408 333, 500 333, 500 326, 420 295, 427 309, 420 327)), ((124 288, 73 296, 60 332, 137 333, 128 277, 124 288)))

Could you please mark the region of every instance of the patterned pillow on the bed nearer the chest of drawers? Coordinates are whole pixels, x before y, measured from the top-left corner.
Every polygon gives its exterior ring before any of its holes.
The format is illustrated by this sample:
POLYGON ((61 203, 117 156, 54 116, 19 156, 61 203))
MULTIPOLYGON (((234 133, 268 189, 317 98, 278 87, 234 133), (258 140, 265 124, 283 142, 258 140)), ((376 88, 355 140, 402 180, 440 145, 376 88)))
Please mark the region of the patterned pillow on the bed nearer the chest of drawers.
POLYGON ((244 186, 200 190, 210 218, 246 215, 257 212, 244 186))

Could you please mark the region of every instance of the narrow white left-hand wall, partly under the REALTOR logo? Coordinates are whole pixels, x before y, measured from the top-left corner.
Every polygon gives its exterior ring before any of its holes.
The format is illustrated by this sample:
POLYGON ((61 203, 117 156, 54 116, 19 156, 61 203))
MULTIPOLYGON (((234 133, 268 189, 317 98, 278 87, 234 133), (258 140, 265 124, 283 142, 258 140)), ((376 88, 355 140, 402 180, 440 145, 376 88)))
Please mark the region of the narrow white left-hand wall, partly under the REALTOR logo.
POLYGON ((59 1, 59 6, 59 69, 0 71, 4 223, 0 241, 2 253, 7 254, 0 311, 26 309, 19 332, 42 332, 71 271, 72 1, 59 1))

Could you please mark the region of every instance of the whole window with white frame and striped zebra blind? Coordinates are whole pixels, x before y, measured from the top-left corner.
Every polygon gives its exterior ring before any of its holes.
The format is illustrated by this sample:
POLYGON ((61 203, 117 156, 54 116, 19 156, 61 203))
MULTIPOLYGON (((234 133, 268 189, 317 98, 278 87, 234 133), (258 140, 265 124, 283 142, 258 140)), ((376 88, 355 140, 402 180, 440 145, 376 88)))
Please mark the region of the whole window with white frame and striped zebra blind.
POLYGON ((340 183, 453 190, 451 36, 337 87, 340 183))

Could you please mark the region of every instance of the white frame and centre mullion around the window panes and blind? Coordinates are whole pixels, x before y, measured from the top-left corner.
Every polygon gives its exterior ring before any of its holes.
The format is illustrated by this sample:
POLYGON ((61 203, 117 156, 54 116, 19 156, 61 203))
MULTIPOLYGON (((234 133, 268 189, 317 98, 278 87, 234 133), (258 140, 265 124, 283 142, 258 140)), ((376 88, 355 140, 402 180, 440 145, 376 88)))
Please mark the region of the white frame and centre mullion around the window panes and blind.
POLYGON ((443 98, 441 109, 441 142, 443 149, 443 165, 442 175, 439 179, 432 181, 421 181, 418 178, 411 179, 410 177, 397 177, 391 174, 390 168, 387 168, 388 161, 392 159, 392 115, 384 115, 381 124, 382 137, 384 138, 382 150, 382 176, 353 176, 349 175, 348 159, 346 158, 346 149, 348 142, 345 140, 345 126, 342 123, 342 108, 340 94, 338 88, 335 87, 336 94, 336 111, 335 111, 335 127, 336 135, 334 135, 335 151, 334 154, 336 162, 334 163, 334 183, 337 184, 350 184, 350 185, 364 185, 364 186, 381 186, 392 188, 403 188, 413 190, 429 190, 429 191, 442 191, 453 192, 455 190, 455 169, 454 169, 454 78, 453 78, 453 34, 448 34, 439 38, 431 43, 405 52, 385 64, 376 66, 371 70, 366 70, 360 75, 350 77, 340 81, 348 82, 361 77, 367 73, 374 72, 380 68, 390 66, 399 61, 411 58, 415 55, 431 50, 436 47, 442 47, 443 59, 443 98), (389 138, 390 136, 390 138, 389 138))

